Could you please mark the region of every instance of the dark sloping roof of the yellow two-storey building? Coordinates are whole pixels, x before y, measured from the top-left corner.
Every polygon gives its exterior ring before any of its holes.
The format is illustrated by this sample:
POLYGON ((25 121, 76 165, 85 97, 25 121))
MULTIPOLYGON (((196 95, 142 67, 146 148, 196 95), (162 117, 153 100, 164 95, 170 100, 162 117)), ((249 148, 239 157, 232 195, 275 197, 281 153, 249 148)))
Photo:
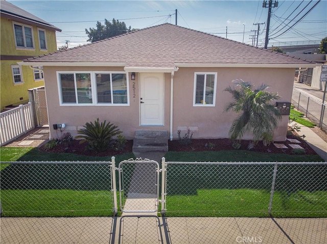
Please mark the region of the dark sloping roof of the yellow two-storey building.
POLYGON ((6 16, 15 21, 20 21, 20 22, 24 22, 24 23, 28 23, 28 24, 36 25, 36 26, 42 26, 42 28, 61 32, 61 30, 59 28, 57 28, 56 26, 44 21, 43 19, 40 19, 39 17, 36 17, 35 15, 33 15, 25 10, 22 10, 21 8, 18 8, 17 6, 15 6, 7 1, 1 0, 0 10, 1 10, 0 13, 1 13, 2 17, 6 16))

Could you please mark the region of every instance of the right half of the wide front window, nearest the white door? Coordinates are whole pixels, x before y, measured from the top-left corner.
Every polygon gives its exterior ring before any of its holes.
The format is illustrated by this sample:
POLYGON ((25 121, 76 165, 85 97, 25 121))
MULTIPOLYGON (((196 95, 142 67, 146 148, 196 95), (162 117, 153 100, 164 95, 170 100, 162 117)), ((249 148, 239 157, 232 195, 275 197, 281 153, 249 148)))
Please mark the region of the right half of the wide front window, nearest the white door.
POLYGON ((96 73, 98 103, 127 104, 126 74, 96 73))

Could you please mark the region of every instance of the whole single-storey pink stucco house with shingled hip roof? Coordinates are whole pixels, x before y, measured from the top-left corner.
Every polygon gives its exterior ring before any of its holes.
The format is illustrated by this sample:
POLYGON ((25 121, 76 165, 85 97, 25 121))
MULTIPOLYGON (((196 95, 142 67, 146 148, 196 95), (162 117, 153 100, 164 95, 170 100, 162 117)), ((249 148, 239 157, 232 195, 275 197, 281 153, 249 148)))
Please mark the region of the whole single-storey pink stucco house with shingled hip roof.
MULTIPOLYGON (((290 102, 296 68, 316 64, 240 42, 161 24, 81 47, 25 60, 43 66, 52 124, 76 135, 86 122, 107 120, 127 139, 137 130, 165 130, 170 139, 228 138, 236 114, 223 113, 233 79, 268 84, 290 102)), ((288 116, 274 132, 286 139, 288 116)), ((250 139, 251 135, 247 135, 250 139)))

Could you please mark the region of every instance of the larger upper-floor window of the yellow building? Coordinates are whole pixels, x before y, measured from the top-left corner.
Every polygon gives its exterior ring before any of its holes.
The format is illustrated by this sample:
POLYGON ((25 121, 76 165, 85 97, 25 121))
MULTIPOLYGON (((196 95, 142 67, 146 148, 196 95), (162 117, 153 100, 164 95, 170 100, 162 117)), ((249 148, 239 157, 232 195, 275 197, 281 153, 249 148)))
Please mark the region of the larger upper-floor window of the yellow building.
POLYGON ((32 27, 14 24, 14 32, 17 47, 34 48, 32 27))

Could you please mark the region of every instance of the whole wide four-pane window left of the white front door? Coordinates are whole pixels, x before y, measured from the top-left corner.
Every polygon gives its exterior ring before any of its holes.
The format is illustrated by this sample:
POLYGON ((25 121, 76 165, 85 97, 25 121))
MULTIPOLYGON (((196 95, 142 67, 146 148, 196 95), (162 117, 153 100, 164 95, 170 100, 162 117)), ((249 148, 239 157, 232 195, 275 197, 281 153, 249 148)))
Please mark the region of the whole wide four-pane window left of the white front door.
POLYGON ((62 105, 129 105, 126 73, 64 71, 57 74, 62 105))

